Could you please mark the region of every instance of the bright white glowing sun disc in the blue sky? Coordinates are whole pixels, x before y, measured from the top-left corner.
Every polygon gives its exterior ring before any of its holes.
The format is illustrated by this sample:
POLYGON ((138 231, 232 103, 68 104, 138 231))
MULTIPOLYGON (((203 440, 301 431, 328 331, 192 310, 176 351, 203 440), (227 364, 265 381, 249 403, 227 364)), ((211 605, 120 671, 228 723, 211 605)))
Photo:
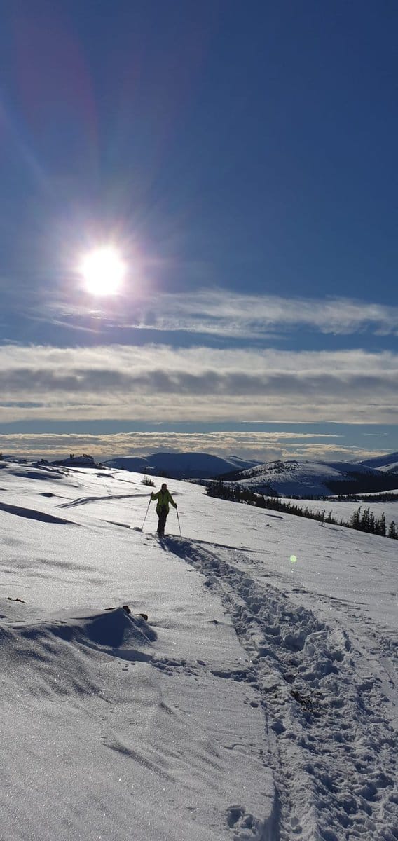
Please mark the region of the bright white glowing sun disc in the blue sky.
POLYGON ((80 273, 90 294, 115 295, 125 277, 125 263, 116 249, 104 246, 82 258, 80 273))

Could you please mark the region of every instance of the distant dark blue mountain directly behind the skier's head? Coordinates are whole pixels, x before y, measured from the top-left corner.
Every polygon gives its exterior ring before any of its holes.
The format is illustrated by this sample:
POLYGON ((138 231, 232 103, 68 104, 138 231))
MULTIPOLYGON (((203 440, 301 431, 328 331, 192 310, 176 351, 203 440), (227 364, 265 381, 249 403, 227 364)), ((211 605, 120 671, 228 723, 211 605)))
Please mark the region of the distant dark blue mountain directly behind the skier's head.
POLYGON ((170 479, 208 479, 258 464, 239 456, 220 458, 208 452, 155 452, 150 456, 120 456, 103 462, 109 468, 164 474, 170 479))

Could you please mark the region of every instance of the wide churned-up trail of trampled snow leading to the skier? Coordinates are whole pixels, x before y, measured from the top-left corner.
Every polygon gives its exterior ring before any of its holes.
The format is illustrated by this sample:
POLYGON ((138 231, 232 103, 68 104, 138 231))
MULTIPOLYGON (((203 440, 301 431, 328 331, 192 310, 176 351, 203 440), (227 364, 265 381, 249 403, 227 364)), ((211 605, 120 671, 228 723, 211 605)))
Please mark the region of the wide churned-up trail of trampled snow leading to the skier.
MULTIPOLYGON (((234 566, 241 551, 228 563, 184 538, 167 537, 163 548, 204 574, 250 656, 247 671, 217 676, 250 682, 266 713, 276 798, 273 828, 263 841, 395 841, 390 639, 370 628, 374 648, 361 650, 354 628, 348 634, 338 616, 332 627, 234 566)), ((231 827, 238 817, 231 812, 231 827)))

